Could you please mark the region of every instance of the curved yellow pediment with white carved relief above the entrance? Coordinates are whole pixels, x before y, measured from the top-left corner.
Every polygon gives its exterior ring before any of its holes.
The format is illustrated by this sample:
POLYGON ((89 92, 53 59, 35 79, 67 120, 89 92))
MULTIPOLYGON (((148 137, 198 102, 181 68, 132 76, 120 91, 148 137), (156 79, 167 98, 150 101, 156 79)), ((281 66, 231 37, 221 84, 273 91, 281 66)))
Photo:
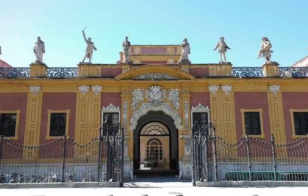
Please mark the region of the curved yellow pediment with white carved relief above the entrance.
POLYGON ((128 69, 116 80, 195 80, 195 77, 168 65, 142 65, 128 69))

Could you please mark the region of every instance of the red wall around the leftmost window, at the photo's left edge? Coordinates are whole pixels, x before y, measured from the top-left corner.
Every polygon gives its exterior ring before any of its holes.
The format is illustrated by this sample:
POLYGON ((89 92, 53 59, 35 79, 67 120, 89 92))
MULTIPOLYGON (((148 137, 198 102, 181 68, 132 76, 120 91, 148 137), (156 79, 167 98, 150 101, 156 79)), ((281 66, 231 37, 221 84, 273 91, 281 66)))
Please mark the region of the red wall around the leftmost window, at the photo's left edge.
POLYGON ((18 143, 24 143, 28 93, 0 93, 0 110, 21 110, 19 116, 18 143))

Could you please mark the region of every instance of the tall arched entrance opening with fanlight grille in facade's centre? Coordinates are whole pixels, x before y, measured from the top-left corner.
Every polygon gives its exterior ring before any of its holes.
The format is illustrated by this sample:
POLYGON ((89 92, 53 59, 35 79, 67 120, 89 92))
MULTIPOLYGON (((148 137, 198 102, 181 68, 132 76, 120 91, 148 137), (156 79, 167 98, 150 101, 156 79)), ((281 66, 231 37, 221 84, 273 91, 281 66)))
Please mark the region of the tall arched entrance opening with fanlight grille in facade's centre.
POLYGON ((178 171, 177 132, 174 120, 164 112, 141 116, 134 130, 134 171, 178 171), (157 159, 157 167, 145 166, 146 157, 157 159))

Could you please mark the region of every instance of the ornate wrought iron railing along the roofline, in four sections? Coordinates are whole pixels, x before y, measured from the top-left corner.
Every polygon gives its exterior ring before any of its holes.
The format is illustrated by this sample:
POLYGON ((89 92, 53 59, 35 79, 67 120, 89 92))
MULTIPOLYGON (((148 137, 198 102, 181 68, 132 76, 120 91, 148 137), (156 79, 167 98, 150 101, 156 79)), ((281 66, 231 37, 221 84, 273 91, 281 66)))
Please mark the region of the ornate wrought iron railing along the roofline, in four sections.
MULTIPOLYGON (((308 67, 279 67, 280 78, 308 78, 308 67)), ((30 78, 30 68, 0 67, 0 78, 30 78)), ((262 67, 232 67, 233 78, 263 78, 262 67)), ((78 67, 47 67, 45 78, 78 78, 78 67)))

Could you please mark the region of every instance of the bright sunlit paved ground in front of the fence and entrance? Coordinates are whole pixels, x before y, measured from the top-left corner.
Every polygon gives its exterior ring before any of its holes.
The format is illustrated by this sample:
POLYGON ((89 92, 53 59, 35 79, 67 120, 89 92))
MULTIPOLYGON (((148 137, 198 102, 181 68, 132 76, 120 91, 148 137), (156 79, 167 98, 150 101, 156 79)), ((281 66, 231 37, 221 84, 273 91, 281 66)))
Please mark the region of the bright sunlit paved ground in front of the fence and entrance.
POLYGON ((143 173, 124 187, 0 189, 1 196, 308 196, 308 187, 194 187, 173 174, 143 173))

